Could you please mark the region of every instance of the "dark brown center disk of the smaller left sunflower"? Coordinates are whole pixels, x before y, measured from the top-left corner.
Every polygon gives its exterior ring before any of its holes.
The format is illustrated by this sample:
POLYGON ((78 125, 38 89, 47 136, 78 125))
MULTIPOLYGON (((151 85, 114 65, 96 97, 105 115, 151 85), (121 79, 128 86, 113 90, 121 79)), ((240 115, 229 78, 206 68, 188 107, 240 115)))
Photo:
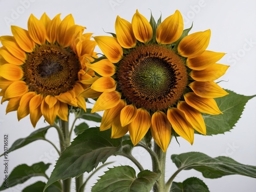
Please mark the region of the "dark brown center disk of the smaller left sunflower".
POLYGON ((75 53, 57 45, 43 45, 27 55, 24 77, 30 91, 59 95, 73 89, 80 63, 75 53))

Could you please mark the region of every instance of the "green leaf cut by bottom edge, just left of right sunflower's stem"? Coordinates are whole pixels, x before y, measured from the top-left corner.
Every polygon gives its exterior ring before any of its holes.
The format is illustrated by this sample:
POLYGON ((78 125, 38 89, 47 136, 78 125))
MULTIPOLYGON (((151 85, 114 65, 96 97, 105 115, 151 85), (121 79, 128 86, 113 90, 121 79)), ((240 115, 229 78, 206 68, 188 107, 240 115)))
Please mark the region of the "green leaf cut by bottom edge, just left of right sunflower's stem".
POLYGON ((92 192, 147 192, 159 177, 159 173, 150 170, 143 170, 136 177, 134 168, 128 165, 109 168, 92 187, 92 192))

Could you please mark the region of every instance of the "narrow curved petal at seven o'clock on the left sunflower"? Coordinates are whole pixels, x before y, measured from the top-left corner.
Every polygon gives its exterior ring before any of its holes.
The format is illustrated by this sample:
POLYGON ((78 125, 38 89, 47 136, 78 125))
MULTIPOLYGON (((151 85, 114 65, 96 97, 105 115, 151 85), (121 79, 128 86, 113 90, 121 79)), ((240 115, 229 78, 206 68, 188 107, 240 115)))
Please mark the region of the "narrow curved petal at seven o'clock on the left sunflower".
POLYGON ((23 119, 29 114, 29 102, 35 95, 35 92, 28 92, 22 96, 17 109, 18 120, 23 119))

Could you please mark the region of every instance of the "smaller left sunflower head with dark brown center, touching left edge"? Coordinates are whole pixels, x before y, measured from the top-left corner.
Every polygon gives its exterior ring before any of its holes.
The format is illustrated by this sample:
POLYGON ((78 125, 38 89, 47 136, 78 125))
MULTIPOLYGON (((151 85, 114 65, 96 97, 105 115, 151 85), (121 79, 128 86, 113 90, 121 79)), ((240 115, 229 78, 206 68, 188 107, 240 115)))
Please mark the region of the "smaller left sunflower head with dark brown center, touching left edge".
MULTIPOLYGON (((52 20, 43 14, 28 20, 28 30, 11 26, 13 36, 1 36, 0 96, 9 101, 6 113, 17 111, 18 120, 30 114, 35 127, 41 116, 50 124, 56 116, 68 120, 70 106, 86 110, 79 93, 86 89, 86 60, 95 55, 96 42, 70 14, 52 20)), ((87 73, 86 73, 87 72, 87 73)))

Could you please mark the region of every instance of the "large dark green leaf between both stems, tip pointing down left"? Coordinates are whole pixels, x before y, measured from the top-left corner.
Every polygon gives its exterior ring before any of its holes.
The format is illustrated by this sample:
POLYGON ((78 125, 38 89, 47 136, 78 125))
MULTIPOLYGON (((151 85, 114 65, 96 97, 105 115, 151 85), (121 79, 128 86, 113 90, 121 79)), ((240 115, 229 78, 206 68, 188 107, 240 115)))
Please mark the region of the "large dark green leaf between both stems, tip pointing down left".
POLYGON ((59 157, 45 189, 58 180, 91 172, 100 162, 121 153, 122 139, 111 139, 111 130, 98 127, 84 130, 59 157))

